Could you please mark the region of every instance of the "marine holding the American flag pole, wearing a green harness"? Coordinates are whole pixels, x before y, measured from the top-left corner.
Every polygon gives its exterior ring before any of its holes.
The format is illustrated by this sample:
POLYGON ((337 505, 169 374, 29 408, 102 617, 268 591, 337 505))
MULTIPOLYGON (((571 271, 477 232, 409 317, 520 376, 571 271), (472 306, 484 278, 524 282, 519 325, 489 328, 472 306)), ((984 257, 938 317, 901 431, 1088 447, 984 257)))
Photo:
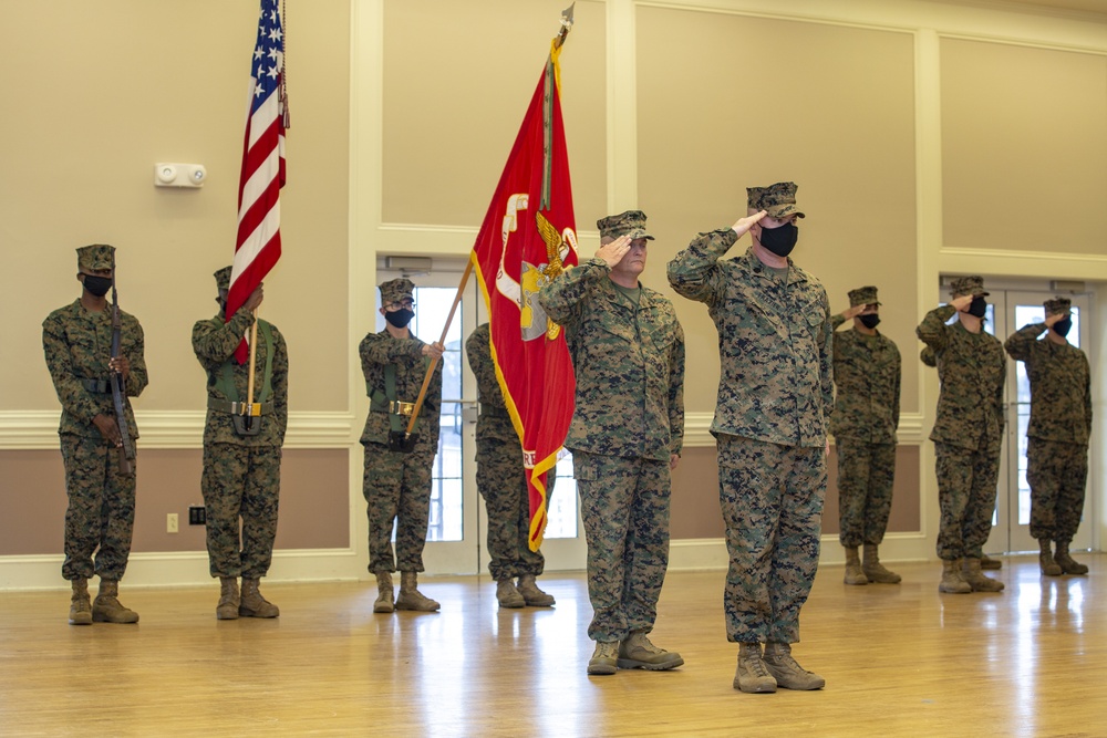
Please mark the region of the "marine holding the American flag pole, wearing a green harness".
POLYGON ((254 311, 263 295, 259 284, 226 321, 230 273, 230 267, 215 273, 218 314, 193 326, 193 351, 207 373, 200 489, 208 565, 220 583, 215 616, 277 617, 280 610, 261 595, 258 584, 269 571, 277 538, 281 446, 288 426, 288 349, 277 326, 258 319, 254 402, 260 403, 261 415, 247 418, 242 412, 250 363, 239 364, 235 350, 254 324, 254 311))

